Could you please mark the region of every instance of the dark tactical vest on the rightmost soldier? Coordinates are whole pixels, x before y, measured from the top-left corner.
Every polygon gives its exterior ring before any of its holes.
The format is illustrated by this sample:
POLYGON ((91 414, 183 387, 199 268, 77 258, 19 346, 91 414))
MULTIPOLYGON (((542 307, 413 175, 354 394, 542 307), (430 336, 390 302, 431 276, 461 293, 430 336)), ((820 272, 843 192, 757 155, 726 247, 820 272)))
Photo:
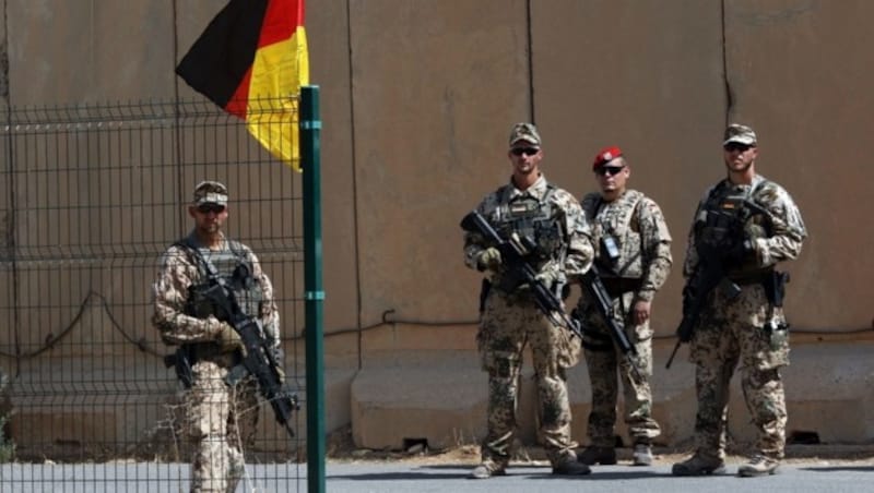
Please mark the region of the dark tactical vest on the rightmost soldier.
MULTIPOLYGON (((761 180, 755 187, 739 191, 727 181, 720 182, 708 194, 695 221, 696 251, 702 260, 720 262, 727 251, 736 248, 737 242, 745 239, 769 238, 773 235, 767 218, 755 214, 744 203, 755 203, 756 193, 768 180, 761 180)), ((755 277, 771 270, 759 267, 755 257, 749 257, 736 265, 728 265, 729 277, 755 277)))

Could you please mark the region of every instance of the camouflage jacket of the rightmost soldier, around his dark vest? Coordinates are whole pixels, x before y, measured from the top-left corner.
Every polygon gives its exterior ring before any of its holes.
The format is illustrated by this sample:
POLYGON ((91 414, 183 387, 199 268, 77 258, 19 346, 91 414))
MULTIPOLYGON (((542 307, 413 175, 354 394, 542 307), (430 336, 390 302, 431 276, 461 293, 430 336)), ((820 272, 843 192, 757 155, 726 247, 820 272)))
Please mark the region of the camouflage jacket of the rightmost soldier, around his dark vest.
MULTIPOLYGON (((767 220, 772 224, 772 231, 761 238, 754 238, 754 267, 769 268, 778 262, 794 260, 799 256, 802 242, 807 237, 807 229, 801 218, 801 212, 789 193, 779 184, 759 175, 756 175, 753 183, 747 185, 732 184, 724 179, 705 192, 695 211, 686 246, 686 261, 683 265, 685 277, 689 277, 698 266, 696 224, 706 215, 711 202, 719 200, 719 196, 725 193, 748 196, 752 202, 770 214, 767 220)), ((757 218, 756 220, 763 219, 757 218)))

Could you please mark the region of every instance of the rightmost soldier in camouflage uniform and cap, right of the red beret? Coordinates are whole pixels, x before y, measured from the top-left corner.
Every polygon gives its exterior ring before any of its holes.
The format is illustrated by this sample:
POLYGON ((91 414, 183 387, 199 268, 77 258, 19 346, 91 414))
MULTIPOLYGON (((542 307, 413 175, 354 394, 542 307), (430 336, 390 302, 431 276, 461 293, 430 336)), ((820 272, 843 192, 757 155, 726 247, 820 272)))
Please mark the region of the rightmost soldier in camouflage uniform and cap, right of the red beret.
POLYGON ((693 457, 673 466, 675 476, 725 471, 729 382, 739 363, 758 440, 737 474, 772 474, 786 446, 780 369, 789 364, 782 310, 787 277, 775 268, 778 262, 798 257, 807 231, 789 193, 756 173, 758 145, 753 129, 729 125, 723 147, 728 178, 711 187, 698 204, 683 266, 684 303, 695 297, 695 279, 702 265, 724 269, 720 284, 707 293, 689 341, 698 397, 697 448, 693 457))

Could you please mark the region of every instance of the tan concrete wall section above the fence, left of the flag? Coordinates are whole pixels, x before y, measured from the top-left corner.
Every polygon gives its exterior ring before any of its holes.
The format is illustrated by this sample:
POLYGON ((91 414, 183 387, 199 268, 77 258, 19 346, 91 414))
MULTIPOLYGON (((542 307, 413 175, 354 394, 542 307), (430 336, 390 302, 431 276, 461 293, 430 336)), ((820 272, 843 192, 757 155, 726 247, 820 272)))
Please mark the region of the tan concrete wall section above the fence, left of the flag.
POLYGON ((12 105, 172 97, 168 0, 7 1, 12 105))

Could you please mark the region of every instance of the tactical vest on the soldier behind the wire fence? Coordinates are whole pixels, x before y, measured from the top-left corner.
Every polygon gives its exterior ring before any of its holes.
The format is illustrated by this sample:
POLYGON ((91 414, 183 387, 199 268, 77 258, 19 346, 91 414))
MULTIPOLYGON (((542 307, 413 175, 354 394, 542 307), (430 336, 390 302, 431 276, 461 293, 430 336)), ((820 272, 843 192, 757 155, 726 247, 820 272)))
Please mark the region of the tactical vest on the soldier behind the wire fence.
POLYGON ((189 289, 197 290, 209 286, 211 269, 204 264, 204 262, 209 262, 212 264, 215 275, 226 286, 232 287, 240 310, 249 316, 257 317, 260 315, 259 309, 264 298, 263 289, 259 282, 256 282, 252 275, 252 264, 247 258, 245 249, 239 242, 225 240, 225 248, 210 250, 209 248, 198 246, 193 239, 188 237, 177 244, 189 252, 190 260, 197 266, 200 276, 199 281, 189 289))

